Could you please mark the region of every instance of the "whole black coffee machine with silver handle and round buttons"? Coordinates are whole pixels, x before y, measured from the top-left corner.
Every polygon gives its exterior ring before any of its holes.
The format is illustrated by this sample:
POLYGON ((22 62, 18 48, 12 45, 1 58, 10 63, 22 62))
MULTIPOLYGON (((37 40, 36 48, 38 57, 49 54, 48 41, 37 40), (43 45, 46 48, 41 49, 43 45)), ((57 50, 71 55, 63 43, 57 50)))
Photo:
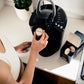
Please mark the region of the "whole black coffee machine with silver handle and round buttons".
POLYGON ((54 5, 51 0, 51 4, 43 4, 41 2, 46 0, 40 0, 38 2, 37 9, 32 13, 29 21, 32 33, 41 27, 49 35, 48 44, 45 49, 40 51, 40 55, 47 57, 53 55, 59 50, 62 42, 63 32, 67 24, 67 17, 65 12, 59 6, 54 5))

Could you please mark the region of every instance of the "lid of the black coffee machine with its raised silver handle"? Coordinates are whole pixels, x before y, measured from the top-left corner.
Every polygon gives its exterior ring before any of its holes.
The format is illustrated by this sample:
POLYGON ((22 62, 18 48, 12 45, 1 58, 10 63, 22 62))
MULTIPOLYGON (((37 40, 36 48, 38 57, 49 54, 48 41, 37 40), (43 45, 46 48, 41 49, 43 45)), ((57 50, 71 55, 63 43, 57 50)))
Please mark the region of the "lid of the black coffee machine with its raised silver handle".
POLYGON ((38 6, 37 6, 37 9, 36 9, 36 14, 39 18, 43 18, 43 19, 48 19, 49 16, 51 16, 52 21, 53 21, 54 17, 56 16, 56 7, 51 0, 39 0, 38 6), (43 2, 43 1, 51 2, 52 10, 51 9, 46 9, 46 8, 41 9, 41 2, 43 2))

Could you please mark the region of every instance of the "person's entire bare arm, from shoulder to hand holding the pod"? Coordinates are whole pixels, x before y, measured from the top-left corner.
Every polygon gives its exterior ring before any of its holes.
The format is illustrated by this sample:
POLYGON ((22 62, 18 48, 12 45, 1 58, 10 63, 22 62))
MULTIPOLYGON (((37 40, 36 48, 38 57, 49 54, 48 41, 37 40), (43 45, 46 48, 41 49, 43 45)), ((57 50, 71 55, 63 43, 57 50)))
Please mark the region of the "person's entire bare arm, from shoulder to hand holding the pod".
POLYGON ((28 60, 28 64, 26 66, 26 69, 23 73, 23 76, 20 80, 20 82, 16 82, 11 74, 10 68, 7 64, 0 63, 0 84, 32 84, 34 70, 35 70, 35 64, 36 59, 38 57, 38 53, 46 47, 48 35, 43 31, 42 37, 39 41, 36 39, 36 33, 34 33, 34 37, 32 40, 31 50, 30 50, 30 57, 28 60), (6 66, 6 67, 5 67, 6 66), (4 72, 6 74, 4 74, 4 72))

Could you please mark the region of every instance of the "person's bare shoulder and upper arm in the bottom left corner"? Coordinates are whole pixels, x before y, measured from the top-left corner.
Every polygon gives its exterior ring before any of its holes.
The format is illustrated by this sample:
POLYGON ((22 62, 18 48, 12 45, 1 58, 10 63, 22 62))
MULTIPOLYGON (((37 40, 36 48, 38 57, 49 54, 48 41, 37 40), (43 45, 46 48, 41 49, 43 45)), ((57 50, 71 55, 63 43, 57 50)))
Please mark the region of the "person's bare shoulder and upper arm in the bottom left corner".
POLYGON ((0 84, 19 84, 14 80, 8 64, 0 60, 0 84))

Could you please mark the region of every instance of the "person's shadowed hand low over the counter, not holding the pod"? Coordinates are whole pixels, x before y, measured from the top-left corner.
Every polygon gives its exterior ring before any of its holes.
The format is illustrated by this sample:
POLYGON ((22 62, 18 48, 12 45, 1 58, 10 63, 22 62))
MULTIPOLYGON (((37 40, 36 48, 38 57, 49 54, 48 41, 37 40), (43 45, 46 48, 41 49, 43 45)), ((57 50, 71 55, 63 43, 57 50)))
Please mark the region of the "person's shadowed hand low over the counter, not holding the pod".
POLYGON ((28 52, 28 48, 31 46, 31 42, 23 42, 22 44, 14 47, 16 52, 25 53, 28 52))

